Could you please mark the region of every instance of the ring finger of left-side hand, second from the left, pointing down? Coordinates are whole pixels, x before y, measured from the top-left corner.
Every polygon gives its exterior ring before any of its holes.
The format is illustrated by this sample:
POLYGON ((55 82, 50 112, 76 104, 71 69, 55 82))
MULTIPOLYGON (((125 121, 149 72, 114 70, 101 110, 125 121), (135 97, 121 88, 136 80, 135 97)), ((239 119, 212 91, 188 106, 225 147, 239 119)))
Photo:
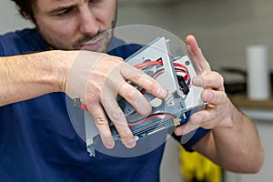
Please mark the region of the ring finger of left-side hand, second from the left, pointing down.
POLYGON ((113 93, 104 93, 102 97, 102 105, 104 106, 107 116, 111 119, 116 127, 123 144, 128 147, 136 146, 136 138, 133 136, 130 128, 128 127, 126 116, 116 103, 116 96, 113 93))

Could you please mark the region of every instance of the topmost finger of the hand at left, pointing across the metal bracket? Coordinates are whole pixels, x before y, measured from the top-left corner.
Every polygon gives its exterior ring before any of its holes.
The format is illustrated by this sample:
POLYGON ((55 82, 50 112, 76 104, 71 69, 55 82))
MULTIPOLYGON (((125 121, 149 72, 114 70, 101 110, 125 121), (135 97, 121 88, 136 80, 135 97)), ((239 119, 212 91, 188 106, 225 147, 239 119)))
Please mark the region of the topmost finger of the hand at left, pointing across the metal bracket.
POLYGON ((146 89, 153 96, 157 96, 160 99, 164 99, 167 96, 167 89, 165 87, 160 86, 151 76, 148 76, 133 66, 124 63, 121 74, 127 80, 146 89))

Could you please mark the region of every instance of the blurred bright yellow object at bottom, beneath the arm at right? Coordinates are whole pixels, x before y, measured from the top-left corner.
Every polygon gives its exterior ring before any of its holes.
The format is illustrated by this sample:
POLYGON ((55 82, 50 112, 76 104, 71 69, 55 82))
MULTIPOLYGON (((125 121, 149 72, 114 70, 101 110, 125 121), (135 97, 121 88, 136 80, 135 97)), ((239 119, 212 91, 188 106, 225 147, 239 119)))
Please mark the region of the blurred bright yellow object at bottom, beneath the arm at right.
POLYGON ((187 152, 183 147, 180 151, 181 172, 186 180, 221 182, 222 169, 215 163, 197 152, 187 152))

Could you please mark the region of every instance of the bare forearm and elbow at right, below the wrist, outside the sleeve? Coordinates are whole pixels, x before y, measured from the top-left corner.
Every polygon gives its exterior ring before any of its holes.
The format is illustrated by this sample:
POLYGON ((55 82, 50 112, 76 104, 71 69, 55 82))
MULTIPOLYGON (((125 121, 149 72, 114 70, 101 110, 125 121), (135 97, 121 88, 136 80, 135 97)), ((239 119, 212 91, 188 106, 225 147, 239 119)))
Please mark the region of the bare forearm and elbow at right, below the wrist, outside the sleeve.
POLYGON ((198 142, 194 149, 227 170, 242 173, 258 172, 263 163, 264 153, 256 126, 248 116, 244 116, 235 106, 230 106, 232 125, 212 129, 211 133, 203 138, 203 142, 198 142), (204 142, 205 140, 207 141, 204 142))

